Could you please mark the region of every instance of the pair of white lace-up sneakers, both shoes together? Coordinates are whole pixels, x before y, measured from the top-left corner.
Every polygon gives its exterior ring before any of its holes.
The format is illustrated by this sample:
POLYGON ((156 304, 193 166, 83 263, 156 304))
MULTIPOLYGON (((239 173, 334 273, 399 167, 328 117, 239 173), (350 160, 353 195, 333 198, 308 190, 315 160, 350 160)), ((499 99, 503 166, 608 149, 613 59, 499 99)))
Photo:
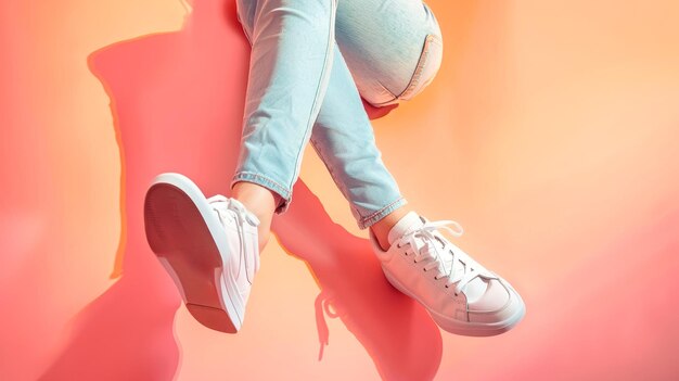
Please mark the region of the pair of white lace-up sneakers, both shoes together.
MULTIPOLYGON (((191 315, 218 331, 235 333, 243 325, 259 269, 258 225, 238 200, 221 194, 206 199, 180 174, 157 176, 146 192, 144 226, 151 249, 191 315)), ((518 293, 439 228, 462 233, 454 221, 430 221, 410 212, 392 228, 390 246, 384 251, 371 230, 370 242, 387 280, 420 302, 446 331, 494 335, 516 326, 525 315, 518 293)))

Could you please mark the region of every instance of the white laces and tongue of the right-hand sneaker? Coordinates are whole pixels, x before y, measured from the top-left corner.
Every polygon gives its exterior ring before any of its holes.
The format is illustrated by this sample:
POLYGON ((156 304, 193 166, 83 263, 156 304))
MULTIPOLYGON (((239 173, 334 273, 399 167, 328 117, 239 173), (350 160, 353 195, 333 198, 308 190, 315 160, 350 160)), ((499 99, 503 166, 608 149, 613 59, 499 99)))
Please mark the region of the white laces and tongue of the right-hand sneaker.
POLYGON ((445 279, 446 288, 454 284, 454 294, 461 293, 466 284, 476 277, 486 279, 489 276, 483 266, 454 247, 439 231, 438 228, 449 231, 453 237, 462 236, 463 229, 453 220, 425 221, 421 227, 406 232, 397 243, 398 247, 408 245, 406 255, 413 255, 415 263, 425 263, 423 270, 437 270, 434 279, 445 279), (451 229, 447 225, 452 225, 451 229))

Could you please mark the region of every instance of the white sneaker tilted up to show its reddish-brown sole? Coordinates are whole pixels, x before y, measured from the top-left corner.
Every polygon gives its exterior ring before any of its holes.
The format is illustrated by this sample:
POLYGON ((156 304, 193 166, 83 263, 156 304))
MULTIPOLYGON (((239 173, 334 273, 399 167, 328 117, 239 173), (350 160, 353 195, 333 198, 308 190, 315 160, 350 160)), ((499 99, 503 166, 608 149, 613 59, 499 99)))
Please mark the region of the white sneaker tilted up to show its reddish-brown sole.
POLYGON ((205 199, 188 177, 162 174, 144 200, 149 245, 202 325, 235 333, 259 269, 259 219, 221 194, 205 199))

